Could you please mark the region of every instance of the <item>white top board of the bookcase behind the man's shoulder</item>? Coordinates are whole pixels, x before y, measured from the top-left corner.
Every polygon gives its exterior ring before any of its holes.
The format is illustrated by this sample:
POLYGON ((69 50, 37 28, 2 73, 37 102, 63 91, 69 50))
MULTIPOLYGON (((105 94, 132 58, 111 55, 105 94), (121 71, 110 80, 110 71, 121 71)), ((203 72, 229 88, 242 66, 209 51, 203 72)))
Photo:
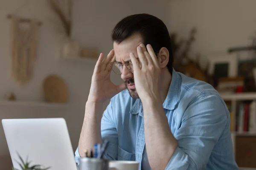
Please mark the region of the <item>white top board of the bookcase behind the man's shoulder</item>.
POLYGON ((221 94, 222 99, 224 100, 256 100, 256 93, 240 93, 240 94, 221 94))

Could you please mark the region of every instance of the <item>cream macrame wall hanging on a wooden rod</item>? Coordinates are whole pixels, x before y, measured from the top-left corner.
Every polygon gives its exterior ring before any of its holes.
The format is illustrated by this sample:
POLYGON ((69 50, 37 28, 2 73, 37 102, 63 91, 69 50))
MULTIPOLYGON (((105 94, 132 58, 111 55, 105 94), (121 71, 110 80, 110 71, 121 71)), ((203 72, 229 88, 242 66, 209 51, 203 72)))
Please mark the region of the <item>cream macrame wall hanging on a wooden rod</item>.
POLYGON ((20 85, 25 85, 33 76, 41 22, 16 14, 9 14, 7 18, 11 20, 12 75, 20 85))

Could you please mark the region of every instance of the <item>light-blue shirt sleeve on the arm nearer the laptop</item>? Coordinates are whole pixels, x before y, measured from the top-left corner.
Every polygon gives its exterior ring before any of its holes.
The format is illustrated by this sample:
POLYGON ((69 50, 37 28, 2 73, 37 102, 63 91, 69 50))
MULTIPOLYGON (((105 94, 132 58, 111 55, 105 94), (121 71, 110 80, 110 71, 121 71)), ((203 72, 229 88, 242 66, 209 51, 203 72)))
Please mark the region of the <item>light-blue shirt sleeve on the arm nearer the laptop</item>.
MULTIPOLYGON (((109 160, 117 160, 117 146, 118 146, 118 138, 117 138, 117 130, 114 122, 113 110, 112 110, 112 99, 103 113, 101 120, 101 133, 102 140, 108 140, 108 146, 103 153, 103 158, 109 160)), ((79 166, 79 151, 78 147, 75 152, 75 161, 79 166)))

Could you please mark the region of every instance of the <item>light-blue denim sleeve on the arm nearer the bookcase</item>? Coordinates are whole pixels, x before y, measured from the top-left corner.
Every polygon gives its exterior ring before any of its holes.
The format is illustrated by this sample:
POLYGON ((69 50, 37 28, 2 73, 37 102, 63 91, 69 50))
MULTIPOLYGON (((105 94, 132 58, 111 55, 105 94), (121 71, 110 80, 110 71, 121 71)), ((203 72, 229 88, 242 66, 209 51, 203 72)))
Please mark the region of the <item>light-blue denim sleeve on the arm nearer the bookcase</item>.
POLYGON ((166 170, 206 169, 213 147, 229 126, 227 108, 218 96, 204 96, 193 101, 174 134, 178 147, 166 170))

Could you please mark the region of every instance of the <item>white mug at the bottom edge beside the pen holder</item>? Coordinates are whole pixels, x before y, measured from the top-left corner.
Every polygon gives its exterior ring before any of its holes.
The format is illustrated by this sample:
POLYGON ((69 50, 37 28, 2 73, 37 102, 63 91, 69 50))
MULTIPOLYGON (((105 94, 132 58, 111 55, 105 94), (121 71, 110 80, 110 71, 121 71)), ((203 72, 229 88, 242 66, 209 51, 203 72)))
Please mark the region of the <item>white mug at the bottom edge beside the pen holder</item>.
POLYGON ((109 170, 138 170, 138 161, 109 161, 109 170))

